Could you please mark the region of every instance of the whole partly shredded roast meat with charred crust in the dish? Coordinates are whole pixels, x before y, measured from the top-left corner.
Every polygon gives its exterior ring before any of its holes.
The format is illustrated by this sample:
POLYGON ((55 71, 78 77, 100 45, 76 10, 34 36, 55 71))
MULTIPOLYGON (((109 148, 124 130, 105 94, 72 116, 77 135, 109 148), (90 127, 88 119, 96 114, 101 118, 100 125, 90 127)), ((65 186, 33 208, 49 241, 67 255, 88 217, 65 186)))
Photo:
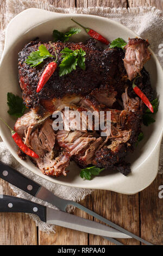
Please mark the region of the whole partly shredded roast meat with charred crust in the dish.
MULTIPOLYGON (((22 89, 22 98, 30 111, 18 118, 15 131, 24 143, 39 155, 31 159, 46 175, 66 175, 70 161, 81 168, 113 168, 127 175, 130 163, 125 161, 128 151, 134 150, 134 144, 141 133, 143 112, 147 109, 133 90, 133 79, 149 101, 154 100, 148 72, 143 65, 150 59, 148 42, 143 39, 129 39, 124 49, 96 47, 94 39, 85 42, 30 41, 18 53, 18 76, 22 89), (40 65, 31 67, 26 63, 30 53, 44 45, 55 56, 57 69, 51 75, 39 93, 37 84, 46 66, 53 61, 46 58, 40 65), (54 50, 55 48, 55 50, 54 50), (82 49, 85 52, 85 69, 76 66, 70 74, 59 75, 61 51, 82 49), (52 114, 61 111, 65 117, 65 107, 70 112, 78 110, 111 112, 110 135, 102 137, 99 131, 74 130, 73 118, 70 119, 70 131, 54 131, 52 114)), ((82 119, 80 120, 82 122, 82 119)), ((26 155, 18 149, 23 159, 26 155)))

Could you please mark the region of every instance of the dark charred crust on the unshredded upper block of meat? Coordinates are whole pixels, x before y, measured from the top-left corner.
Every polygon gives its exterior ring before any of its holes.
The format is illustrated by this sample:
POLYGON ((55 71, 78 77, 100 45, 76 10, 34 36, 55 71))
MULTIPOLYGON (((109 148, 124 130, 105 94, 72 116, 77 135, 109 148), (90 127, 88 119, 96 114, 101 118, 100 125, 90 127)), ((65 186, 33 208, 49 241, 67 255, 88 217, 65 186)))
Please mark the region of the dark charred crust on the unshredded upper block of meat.
MULTIPOLYGON (((108 52, 106 52, 106 50, 103 51, 101 48, 97 48, 92 40, 87 42, 86 45, 82 42, 68 42, 65 44, 56 42, 54 46, 58 53, 58 65, 61 62, 60 51, 64 47, 71 48, 71 50, 82 48, 86 52, 86 70, 83 71, 77 67, 77 69, 73 70, 70 74, 59 77, 59 68, 57 68, 46 86, 43 87, 38 94, 36 93, 37 83, 47 64, 52 61, 52 58, 45 59, 42 64, 35 68, 31 68, 24 63, 24 61, 27 56, 29 56, 32 51, 36 51, 41 44, 41 41, 29 42, 23 50, 18 53, 18 76, 23 92, 24 103, 26 103, 29 108, 39 105, 43 100, 52 100, 54 97, 59 99, 67 93, 87 95, 91 93, 92 89, 98 88, 101 84, 114 86, 117 84, 116 80, 118 80, 118 78, 116 79, 114 77, 116 73, 121 75, 121 70, 123 70, 124 74, 126 74, 122 60, 124 53, 119 49, 108 48, 108 52), (117 68, 120 72, 118 72, 117 68)), ((54 54, 51 45, 48 43, 44 45, 49 52, 54 54)))

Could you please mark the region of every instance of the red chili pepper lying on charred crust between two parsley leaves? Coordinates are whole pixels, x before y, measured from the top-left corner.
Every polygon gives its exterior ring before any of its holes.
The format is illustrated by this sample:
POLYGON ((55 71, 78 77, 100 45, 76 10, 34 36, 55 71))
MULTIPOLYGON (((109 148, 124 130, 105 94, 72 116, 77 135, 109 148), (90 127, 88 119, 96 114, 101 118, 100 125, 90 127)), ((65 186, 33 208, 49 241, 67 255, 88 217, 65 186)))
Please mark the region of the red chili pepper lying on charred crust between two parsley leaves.
MULTIPOLYGON (((52 45, 52 44, 51 44, 52 45)), ((52 45, 52 47, 54 48, 54 46, 52 45)), ((55 51, 55 48, 54 48, 55 51)), ((39 93, 40 90, 43 88, 43 86, 45 86, 45 84, 47 83, 47 81, 49 80, 49 78, 53 75, 55 69, 57 69, 57 53, 55 51, 55 56, 56 59, 54 62, 51 62, 47 65, 46 69, 43 71, 39 83, 37 85, 37 90, 36 92, 39 93)))

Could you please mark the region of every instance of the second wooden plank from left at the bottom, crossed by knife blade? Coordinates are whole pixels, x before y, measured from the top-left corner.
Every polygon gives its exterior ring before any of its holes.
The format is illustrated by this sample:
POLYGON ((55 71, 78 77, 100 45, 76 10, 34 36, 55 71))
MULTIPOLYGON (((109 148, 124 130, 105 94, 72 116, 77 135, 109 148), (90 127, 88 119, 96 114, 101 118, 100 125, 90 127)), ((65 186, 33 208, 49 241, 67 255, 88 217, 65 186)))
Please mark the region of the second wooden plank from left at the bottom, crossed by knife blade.
MULTIPOLYGON (((80 204, 92 209, 91 195, 86 196, 80 204)), ((91 216, 79 209, 74 211, 74 215, 92 220, 91 216)), ((39 245, 88 245, 88 234, 57 226, 56 234, 39 231, 39 245)))

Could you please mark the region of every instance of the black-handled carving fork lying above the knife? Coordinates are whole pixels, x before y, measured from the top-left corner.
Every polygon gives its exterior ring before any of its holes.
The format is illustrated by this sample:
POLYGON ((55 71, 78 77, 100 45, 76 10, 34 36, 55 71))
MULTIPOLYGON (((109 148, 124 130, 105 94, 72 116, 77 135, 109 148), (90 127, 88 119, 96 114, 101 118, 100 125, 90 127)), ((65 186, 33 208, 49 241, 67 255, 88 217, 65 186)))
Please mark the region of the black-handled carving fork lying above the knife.
POLYGON ((66 211, 67 205, 73 205, 78 209, 85 211, 87 214, 92 215, 98 220, 110 225, 110 227, 123 232, 124 234, 128 235, 128 237, 133 237, 134 239, 143 242, 146 245, 152 245, 152 243, 149 243, 142 239, 141 237, 132 234, 131 232, 127 231, 124 228, 121 228, 119 225, 107 220, 106 218, 103 218, 102 216, 96 214, 95 212, 87 209, 83 205, 80 205, 71 200, 65 200, 55 196, 51 191, 47 190, 47 188, 40 186, 36 182, 28 179, 26 176, 22 175, 17 170, 11 168, 10 166, 7 166, 2 162, 0 162, 0 178, 8 181, 9 183, 18 188, 21 188, 23 191, 26 191, 27 193, 31 194, 36 198, 40 198, 46 202, 55 205, 61 211, 66 211))

